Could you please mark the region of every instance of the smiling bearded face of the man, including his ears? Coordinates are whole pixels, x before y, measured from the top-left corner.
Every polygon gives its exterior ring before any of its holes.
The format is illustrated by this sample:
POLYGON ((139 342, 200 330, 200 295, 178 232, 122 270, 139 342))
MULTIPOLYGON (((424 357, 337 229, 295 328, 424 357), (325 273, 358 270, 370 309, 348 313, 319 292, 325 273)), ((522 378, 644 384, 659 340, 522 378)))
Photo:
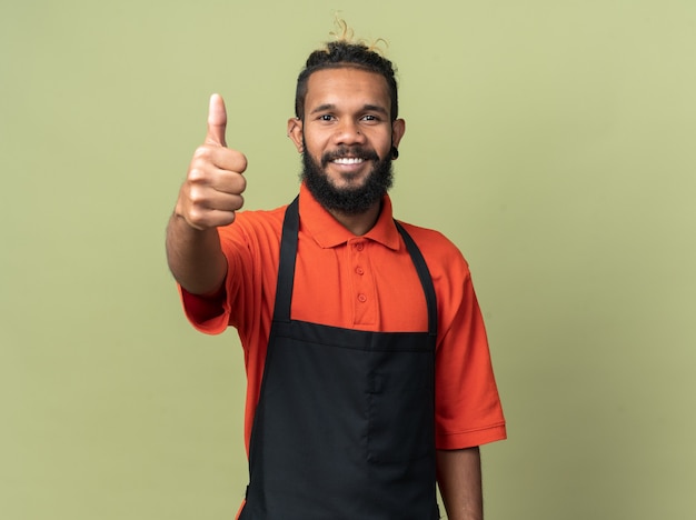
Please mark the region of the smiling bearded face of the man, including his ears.
POLYGON ((391 147, 404 134, 391 121, 386 80, 354 68, 312 73, 304 119, 291 119, 288 133, 304 151, 304 180, 328 209, 366 211, 391 186, 391 147))

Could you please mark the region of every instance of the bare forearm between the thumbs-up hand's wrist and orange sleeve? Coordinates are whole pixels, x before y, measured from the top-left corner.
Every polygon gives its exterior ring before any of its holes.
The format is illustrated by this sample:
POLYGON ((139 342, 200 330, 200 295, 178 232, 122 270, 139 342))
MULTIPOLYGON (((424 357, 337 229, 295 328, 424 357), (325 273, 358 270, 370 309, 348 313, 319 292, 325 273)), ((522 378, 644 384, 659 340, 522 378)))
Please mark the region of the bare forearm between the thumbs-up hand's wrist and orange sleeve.
POLYGON ((192 294, 219 291, 227 274, 217 228, 195 229, 176 213, 167 226, 167 261, 176 280, 192 294))

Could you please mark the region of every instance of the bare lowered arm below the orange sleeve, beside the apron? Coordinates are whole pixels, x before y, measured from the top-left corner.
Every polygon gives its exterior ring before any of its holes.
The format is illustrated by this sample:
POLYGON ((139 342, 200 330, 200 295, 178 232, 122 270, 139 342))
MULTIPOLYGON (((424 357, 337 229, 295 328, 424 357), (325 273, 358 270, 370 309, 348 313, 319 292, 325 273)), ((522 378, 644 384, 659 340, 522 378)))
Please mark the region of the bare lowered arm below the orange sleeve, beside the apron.
POLYGON ((449 520, 483 520, 481 459, 478 447, 437 450, 437 481, 449 520))

